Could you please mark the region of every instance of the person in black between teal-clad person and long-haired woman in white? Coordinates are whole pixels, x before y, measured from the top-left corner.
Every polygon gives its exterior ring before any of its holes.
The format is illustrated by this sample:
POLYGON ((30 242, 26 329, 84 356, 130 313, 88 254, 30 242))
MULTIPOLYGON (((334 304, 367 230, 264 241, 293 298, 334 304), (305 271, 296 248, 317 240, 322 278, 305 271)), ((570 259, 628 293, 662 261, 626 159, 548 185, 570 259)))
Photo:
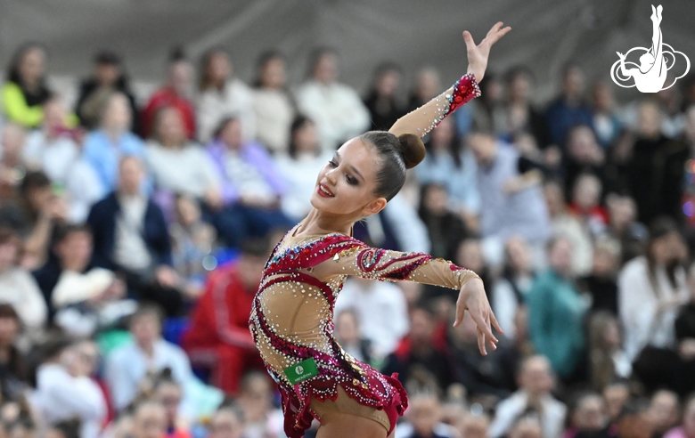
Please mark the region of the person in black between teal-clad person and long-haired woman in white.
POLYGON ((617 316, 617 270, 620 244, 610 238, 596 241, 592 272, 579 280, 583 291, 592 296, 592 311, 607 311, 617 316))

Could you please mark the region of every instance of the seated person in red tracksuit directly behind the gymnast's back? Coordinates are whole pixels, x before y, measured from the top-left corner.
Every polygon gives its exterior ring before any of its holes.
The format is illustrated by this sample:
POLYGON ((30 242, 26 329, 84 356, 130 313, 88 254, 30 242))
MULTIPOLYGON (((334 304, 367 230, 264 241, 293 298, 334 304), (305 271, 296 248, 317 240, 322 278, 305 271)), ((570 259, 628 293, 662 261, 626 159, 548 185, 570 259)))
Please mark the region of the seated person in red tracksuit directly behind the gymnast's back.
POLYGON ((268 239, 247 239, 239 259, 208 279, 183 346, 193 364, 212 369, 212 384, 235 395, 249 369, 264 370, 249 331, 251 304, 270 253, 268 239))

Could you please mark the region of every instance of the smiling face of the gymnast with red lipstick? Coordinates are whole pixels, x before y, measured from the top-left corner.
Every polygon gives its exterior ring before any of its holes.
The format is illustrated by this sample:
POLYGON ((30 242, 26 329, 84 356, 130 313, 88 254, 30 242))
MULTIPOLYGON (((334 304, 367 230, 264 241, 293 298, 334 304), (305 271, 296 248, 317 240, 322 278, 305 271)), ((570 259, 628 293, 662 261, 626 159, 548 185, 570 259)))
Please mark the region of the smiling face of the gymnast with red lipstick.
POLYGON ((379 213, 386 199, 374 196, 380 159, 359 138, 336 150, 316 178, 311 205, 323 213, 358 220, 379 213))

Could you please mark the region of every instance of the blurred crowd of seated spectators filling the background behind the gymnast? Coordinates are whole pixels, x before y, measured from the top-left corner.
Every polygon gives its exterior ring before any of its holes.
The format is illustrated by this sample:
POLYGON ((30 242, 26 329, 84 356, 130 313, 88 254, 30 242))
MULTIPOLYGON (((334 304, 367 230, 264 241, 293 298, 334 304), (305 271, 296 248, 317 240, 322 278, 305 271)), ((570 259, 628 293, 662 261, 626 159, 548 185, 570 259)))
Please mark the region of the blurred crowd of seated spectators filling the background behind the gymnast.
MULTIPOLYGON (((267 256, 342 142, 448 87, 386 62, 359 93, 330 48, 300 84, 282 53, 248 83, 225 50, 195 61, 136 95, 104 50, 75 101, 43 45, 7 66, 0 437, 284 436, 248 328, 267 256)), ((622 103, 576 65, 560 83, 539 102, 523 66, 488 72, 355 225, 478 272, 504 330, 483 356, 456 290, 347 280, 335 335, 399 373, 398 438, 695 438, 695 78, 622 103)))

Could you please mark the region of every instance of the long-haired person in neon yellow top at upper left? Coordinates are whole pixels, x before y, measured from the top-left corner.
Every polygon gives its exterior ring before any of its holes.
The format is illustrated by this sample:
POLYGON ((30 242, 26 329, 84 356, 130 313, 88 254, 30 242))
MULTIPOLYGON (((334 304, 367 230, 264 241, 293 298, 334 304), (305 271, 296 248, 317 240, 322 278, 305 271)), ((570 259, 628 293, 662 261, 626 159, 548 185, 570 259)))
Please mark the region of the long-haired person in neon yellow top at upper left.
POLYGON ((8 121, 29 129, 41 125, 44 104, 52 95, 45 83, 45 59, 45 47, 38 43, 22 45, 12 56, 0 92, 8 121))

